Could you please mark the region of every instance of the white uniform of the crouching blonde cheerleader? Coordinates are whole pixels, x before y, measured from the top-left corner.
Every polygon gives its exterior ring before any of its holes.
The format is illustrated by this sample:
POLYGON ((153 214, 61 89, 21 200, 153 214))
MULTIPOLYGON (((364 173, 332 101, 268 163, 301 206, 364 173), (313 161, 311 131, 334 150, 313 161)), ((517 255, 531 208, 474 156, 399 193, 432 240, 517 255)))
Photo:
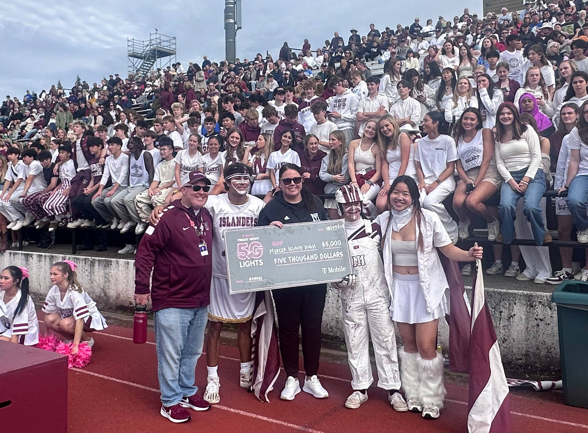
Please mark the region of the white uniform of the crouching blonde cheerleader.
POLYGON ((105 318, 96 308, 96 303, 85 290, 80 293, 68 289, 62 299, 59 287, 53 286, 45 298, 43 311, 47 314, 59 313, 62 319, 73 315, 75 320, 83 319, 84 328, 87 327, 93 331, 108 328, 105 318))

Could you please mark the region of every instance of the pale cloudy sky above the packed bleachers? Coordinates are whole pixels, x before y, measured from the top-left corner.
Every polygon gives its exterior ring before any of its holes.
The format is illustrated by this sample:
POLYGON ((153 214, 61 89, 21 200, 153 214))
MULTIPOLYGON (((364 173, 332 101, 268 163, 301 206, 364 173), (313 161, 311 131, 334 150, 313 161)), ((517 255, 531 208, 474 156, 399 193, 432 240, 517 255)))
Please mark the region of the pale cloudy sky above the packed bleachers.
MULTIPOLYGON (((410 25, 415 16, 422 25, 427 18, 435 25, 437 16, 452 19, 465 6, 470 13, 482 12, 479 0, 424 0, 418 7, 416 2, 370 2, 364 7, 367 3, 357 0, 243 0, 242 4, 243 29, 237 32, 240 59, 251 59, 257 52, 265 56, 266 50, 276 58, 283 42, 301 48, 305 38, 313 49, 322 48, 335 31, 347 41, 349 29, 355 27, 366 35, 371 22, 383 31, 386 26, 410 25), (291 10, 286 11, 285 4, 291 10)), ((203 55, 220 61, 225 53, 223 8, 222 0, 1 0, 0 99, 5 95, 21 99, 27 89, 49 90, 58 80, 70 88, 76 75, 90 85, 111 73, 125 77, 126 38, 148 39, 155 28, 176 36, 177 60, 182 65, 202 63, 203 55)))

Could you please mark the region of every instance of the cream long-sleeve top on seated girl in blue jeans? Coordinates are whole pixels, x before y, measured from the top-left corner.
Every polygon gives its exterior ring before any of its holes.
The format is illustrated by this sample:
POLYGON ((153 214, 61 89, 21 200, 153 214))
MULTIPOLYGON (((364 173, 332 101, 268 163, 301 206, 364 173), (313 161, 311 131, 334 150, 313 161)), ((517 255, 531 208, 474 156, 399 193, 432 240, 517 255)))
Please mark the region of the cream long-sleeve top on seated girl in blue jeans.
POLYGON ((534 179, 541 166, 541 145, 539 136, 530 126, 523 132, 519 140, 506 143, 496 143, 494 148, 496 168, 508 182, 513 177, 510 172, 527 169, 525 176, 534 179))

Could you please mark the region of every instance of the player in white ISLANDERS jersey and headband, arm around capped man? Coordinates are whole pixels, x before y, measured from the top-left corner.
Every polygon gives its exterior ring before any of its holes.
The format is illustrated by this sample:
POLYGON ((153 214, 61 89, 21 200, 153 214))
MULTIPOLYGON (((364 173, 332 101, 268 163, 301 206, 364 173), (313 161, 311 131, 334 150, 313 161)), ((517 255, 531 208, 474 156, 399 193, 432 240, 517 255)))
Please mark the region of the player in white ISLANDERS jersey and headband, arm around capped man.
MULTIPOLYGON (((203 398, 211 404, 220 401, 220 379, 218 358, 220 331, 223 323, 238 325, 237 345, 240 354, 239 385, 249 390, 251 372, 251 319, 255 307, 255 293, 229 294, 226 268, 225 239, 227 229, 253 227, 257 225, 263 201, 247 192, 252 182, 253 171, 243 163, 235 162, 225 168, 223 179, 228 193, 218 196, 210 194, 205 204, 212 215, 212 281, 208 306, 208 333, 206 334, 207 385, 203 398)), ((175 194, 171 200, 181 198, 175 194)), ((162 212, 158 206, 153 210, 151 221, 156 221, 162 212)))

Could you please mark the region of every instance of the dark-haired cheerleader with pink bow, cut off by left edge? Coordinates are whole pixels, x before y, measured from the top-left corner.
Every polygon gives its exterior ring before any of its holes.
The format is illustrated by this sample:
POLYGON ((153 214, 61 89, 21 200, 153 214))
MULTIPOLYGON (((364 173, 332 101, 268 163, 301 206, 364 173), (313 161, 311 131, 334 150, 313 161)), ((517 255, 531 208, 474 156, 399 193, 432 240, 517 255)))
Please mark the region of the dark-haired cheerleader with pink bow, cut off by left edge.
POLYGON ((32 346, 39 343, 39 321, 29 296, 29 271, 8 266, 0 274, 0 340, 32 346))

